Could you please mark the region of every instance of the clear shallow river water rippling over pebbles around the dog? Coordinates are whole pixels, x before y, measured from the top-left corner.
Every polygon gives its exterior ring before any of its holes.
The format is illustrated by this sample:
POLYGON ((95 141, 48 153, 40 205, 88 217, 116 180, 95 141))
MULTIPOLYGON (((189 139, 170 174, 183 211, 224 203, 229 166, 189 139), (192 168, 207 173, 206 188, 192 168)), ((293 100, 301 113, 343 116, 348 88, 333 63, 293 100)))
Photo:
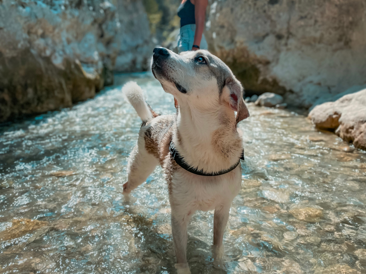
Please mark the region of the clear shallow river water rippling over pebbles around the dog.
MULTIPOLYGON (((175 273, 161 168, 122 195, 141 125, 121 85, 158 113, 171 95, 149 73, 116 75, 94 99, 0 128, 0 273, 175 273)), ((213 212, 188 227, 193 274, 366 273, 366 154, 303 116, 249 104, 242 189, 212 259, 213 212)))

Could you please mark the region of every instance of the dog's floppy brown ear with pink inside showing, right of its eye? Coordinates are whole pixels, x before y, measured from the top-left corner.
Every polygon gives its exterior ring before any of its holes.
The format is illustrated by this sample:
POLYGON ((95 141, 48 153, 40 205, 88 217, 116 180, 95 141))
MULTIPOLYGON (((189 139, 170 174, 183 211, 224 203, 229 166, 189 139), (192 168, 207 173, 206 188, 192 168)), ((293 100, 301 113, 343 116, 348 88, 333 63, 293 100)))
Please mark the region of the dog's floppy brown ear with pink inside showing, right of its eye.
POLYGON ((242 84, 235 78, 235 76, 229 76, 225 80, 224 94, 227 96, 227 102, 232 110, 237 111, 236 123, 249 117, 249 111, 244 103, 243 99, 243 87, 242 84))

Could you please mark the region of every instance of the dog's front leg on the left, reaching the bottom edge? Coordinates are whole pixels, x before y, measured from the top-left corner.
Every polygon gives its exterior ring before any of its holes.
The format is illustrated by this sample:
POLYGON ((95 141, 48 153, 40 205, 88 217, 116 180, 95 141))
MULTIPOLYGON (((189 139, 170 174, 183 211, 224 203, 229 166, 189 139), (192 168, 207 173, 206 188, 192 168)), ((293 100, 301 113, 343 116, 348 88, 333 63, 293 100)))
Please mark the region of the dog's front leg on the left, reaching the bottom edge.
POLYGON ((177 263, 175 268, 178 274, 190 274, 188 263, 187 263, 187 226, 191 220, 188 214, 176 214, 174 208, 172 208, 172 234, 173 244, 175 249, 175 255, 177 257, 177 263))

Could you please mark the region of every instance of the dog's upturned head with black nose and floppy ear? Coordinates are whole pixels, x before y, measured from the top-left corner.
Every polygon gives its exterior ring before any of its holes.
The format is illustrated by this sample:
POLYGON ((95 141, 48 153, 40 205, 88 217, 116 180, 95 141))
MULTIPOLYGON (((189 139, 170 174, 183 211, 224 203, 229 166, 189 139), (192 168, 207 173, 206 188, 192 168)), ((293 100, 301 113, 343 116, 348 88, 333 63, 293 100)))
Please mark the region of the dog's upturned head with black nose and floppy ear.
POLYGON ((223 61, 207 50, 179 55, 164 47, 154 49, 152 72, 165 92, 179 104, 203 110, 237 111, 236 123, 249 117, 243 87, 223 61))

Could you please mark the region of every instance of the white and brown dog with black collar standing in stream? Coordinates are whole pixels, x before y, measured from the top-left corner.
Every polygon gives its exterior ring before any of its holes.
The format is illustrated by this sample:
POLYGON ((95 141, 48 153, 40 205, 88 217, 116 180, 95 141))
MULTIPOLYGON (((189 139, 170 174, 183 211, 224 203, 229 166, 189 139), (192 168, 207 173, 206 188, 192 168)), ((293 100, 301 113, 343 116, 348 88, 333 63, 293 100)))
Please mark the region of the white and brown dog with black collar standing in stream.
POLYGON ((242 138, 237 124, 249 117, 243 87, 232 71, 207 50, 153 50, 152 72, 176 100, 176 114, 159 115, 134 82, 122 91, 142 119, 130 154, 128 194, 163 167, 171 205, 171 227, 178 274, 191 273, 186 256, 187 226, 197 210, 213 210, 215 256, 223 254, 223 235, 232 200, 241 186, 242 138), (235 115, 236 113, 236 115, 235 115))

